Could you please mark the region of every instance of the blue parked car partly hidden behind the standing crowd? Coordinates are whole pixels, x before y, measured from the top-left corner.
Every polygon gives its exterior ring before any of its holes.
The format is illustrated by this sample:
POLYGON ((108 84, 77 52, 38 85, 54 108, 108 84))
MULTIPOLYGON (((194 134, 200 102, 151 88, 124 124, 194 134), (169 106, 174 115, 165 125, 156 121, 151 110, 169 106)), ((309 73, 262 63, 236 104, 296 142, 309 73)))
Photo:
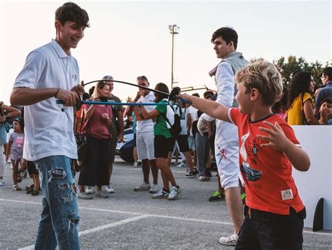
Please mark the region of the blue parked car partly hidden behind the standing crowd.
POLYGON ((134 133, 132 127, 124 131, 123 142, 118 142, 116 145, 116 155, 119 155, 122 160, 126 162, 134 162, 132 151, 134 150, 134 133))

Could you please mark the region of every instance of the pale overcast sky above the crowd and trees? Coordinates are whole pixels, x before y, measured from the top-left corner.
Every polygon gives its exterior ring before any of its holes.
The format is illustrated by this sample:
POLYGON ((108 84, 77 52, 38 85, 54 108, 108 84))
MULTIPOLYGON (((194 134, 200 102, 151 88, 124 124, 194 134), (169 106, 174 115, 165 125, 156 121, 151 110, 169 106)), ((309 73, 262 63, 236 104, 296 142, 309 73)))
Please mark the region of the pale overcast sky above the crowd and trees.
MULTIPOLYGON (((136 83, 148 77, 151 88, 171 82, 172 36, 178 25, 174 74, 181 88, 208 85, 207 72, 218 64, 210 43, 219 27, 239 34, 237 51, 248 60, 295 55, 307 62, 331 61, 331 1, 75 1, 90 17, 90 28, 72 54, 81 80, 112 75, 136 83)), ((0 100, 8 104, 15 77, 27 54, 55 38, 54 13, 64 1, 1 1, 0 100)), ((91 86, 87 86, 86 90, 91 86)), ((115 83, 125 99, 137 89, 115 83)))

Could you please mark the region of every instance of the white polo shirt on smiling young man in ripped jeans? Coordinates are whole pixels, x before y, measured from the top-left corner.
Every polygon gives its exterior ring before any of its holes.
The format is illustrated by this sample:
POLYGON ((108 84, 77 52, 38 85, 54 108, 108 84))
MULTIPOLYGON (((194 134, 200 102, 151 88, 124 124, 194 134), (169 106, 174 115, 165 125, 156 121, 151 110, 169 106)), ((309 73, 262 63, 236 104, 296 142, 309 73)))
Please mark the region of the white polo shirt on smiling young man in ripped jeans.
MULTIPOLYGON (((64 53, 52 39, 50 43, 29 53, 13 88, 71 90, 78 83, 80 78, 76 59, 64 53)), ((23 158, 32 161, 52 155, 77 158, 74 111, 72 107, 64 107, 64 111, 61 109, 62 104, 56 104, 54 97, 25 106, 23 158)))

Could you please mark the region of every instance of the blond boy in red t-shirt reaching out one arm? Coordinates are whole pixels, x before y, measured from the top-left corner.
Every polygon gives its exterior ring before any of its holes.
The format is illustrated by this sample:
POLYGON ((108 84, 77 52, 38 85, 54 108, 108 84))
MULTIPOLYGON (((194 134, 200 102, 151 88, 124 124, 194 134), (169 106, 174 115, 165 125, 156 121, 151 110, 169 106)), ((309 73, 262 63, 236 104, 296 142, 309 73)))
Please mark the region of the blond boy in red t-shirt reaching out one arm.
POLYGON ((235 249, 302 249, 303 205, 292 166, 307 171, 310 158, 293 129, 272 113, 282 93, 275 65, 256 62, 237 72, 239 108, 180 95, 197 109, 237 125, 240 169, 246 186, 246 216, 235 249))

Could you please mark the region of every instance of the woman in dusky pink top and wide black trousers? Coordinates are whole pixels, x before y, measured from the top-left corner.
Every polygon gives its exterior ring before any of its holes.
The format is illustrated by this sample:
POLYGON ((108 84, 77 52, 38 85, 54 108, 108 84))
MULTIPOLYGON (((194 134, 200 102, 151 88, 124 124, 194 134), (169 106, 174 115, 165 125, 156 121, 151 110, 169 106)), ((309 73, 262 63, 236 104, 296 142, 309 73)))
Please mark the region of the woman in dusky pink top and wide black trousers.
MULTIPOLYGON (((109 94, 109 85, 100 81, 92 93, 92 101, 105 101, 109 94)), ((85 130, 88 133, 89 153, 83 160, 82 169, 78 179, 80 192, 79 198, 91 199, 87 194, 93 193, 93 186, 97 186, 96 197, 106 198, 102 193, 102 186, 109 185, 109 157, 108 148, 111 134, 109 127, 112 120, 111 105, 90 105, 84 104, 85 130), (84 186, 88 188, 84 191, 84 186)))

